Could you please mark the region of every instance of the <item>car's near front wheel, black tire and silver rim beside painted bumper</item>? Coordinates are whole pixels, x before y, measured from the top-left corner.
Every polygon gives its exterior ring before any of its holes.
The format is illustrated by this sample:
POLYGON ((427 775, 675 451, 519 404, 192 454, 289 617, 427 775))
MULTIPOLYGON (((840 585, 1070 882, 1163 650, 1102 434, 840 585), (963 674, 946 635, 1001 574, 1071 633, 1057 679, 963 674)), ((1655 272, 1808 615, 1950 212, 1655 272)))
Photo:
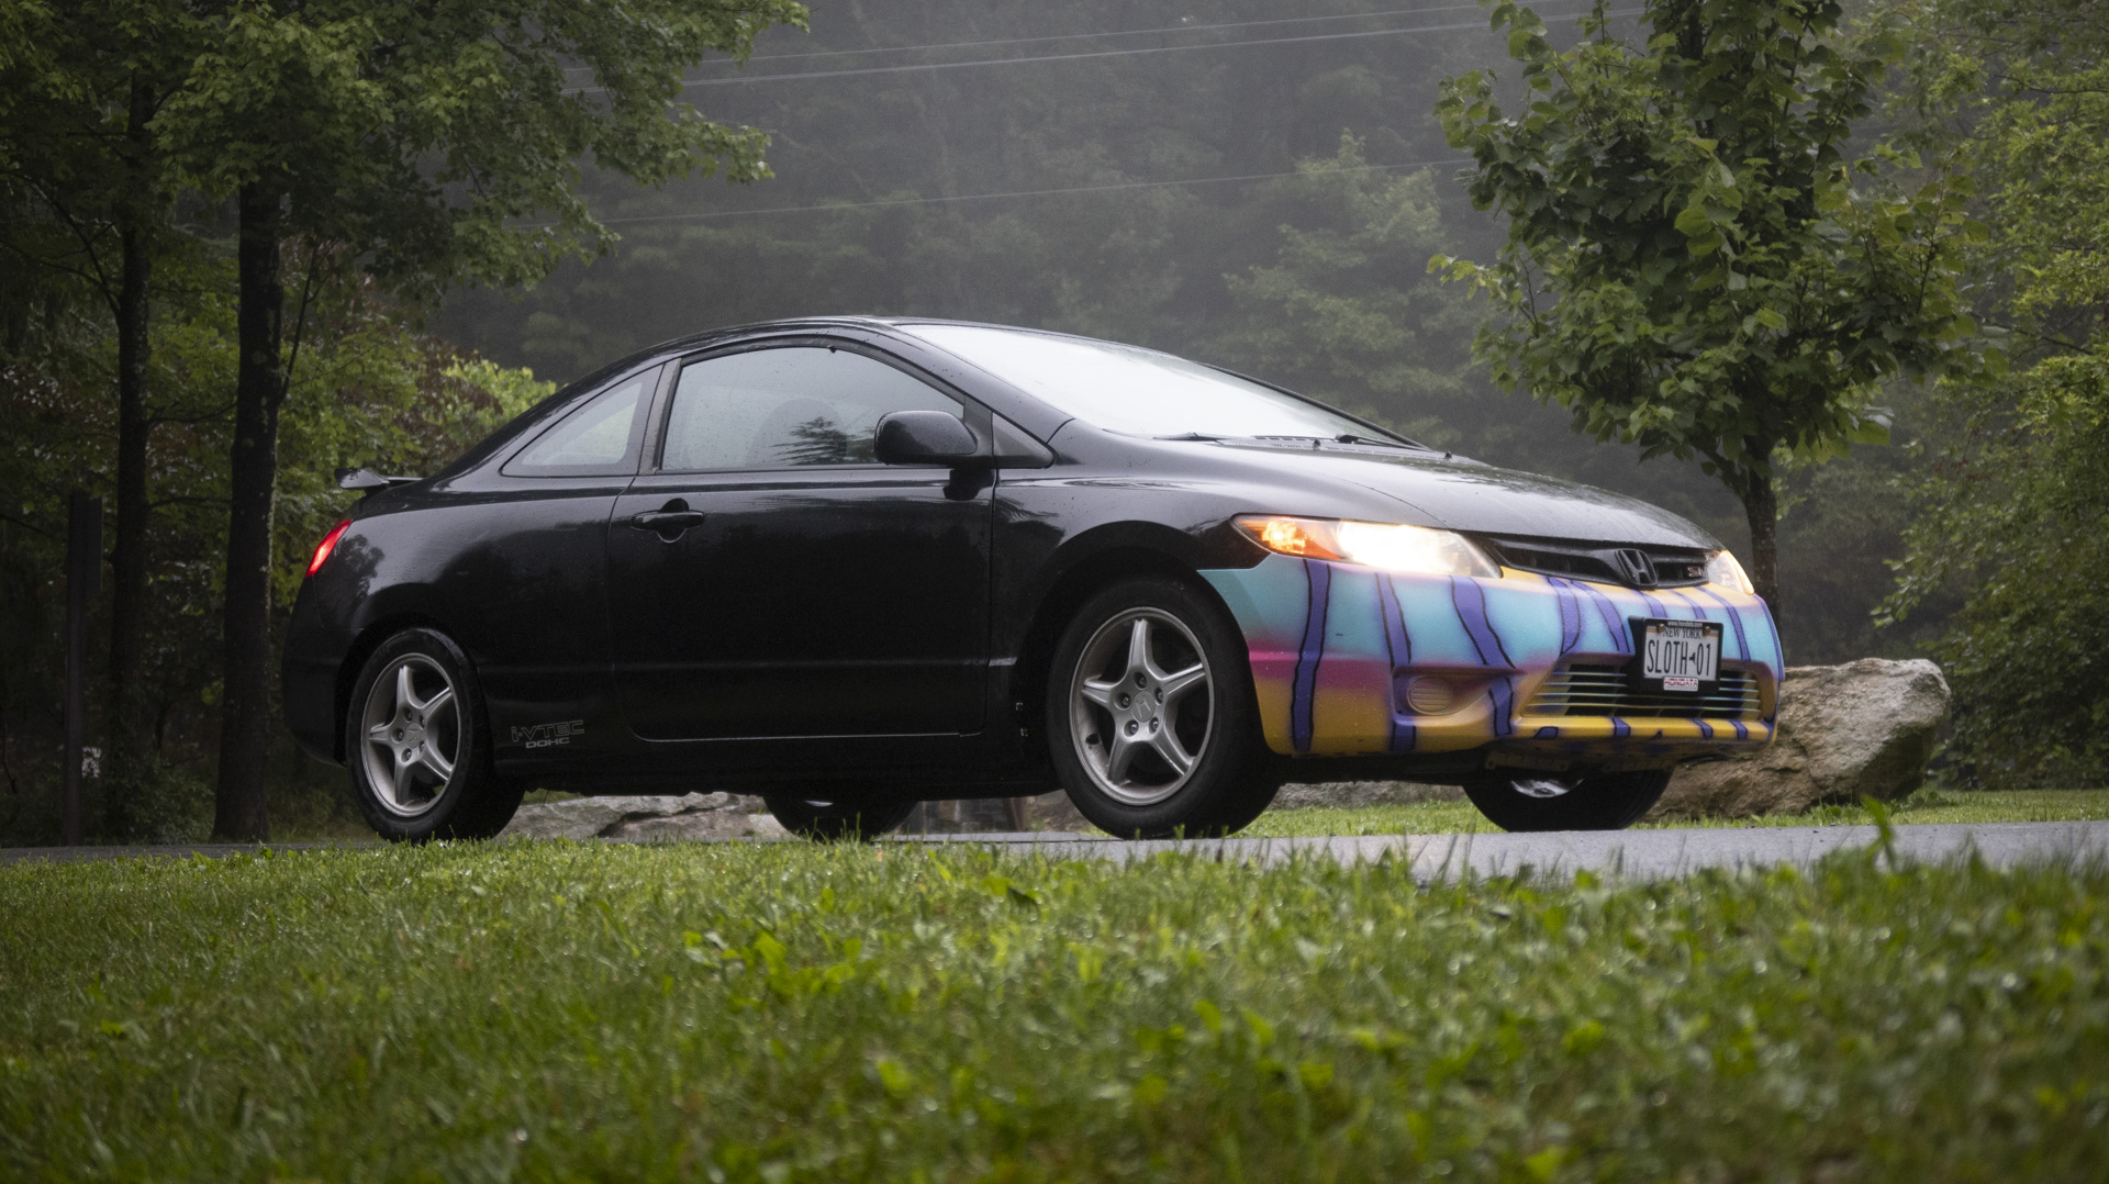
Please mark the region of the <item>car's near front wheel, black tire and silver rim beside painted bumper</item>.
POLYGON ((1069 800, 1122 838, 1232 834, 1278 789, 1244 639, 1179 580, 1124 580, 1078 610, 1046 730, 1069 800))

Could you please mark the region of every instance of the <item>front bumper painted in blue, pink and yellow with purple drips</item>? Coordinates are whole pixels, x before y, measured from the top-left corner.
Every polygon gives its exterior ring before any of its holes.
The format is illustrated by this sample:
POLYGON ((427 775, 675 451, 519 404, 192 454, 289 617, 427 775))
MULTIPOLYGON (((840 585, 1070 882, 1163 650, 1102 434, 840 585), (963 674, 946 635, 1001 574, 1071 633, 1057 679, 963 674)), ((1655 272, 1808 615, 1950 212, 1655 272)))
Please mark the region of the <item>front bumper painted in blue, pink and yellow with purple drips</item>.
POLYGON ((1284 756, 1487 747, 1497 764, 1660 766, 1772 741, 1780 635, 1765 604, 1734 589, 1413 576, 1291 555, 1202 576, 1244 631, 1268 745, 1284 756), (1626 680, 1637 616, 1723 625, 1710 694, 1626 680))

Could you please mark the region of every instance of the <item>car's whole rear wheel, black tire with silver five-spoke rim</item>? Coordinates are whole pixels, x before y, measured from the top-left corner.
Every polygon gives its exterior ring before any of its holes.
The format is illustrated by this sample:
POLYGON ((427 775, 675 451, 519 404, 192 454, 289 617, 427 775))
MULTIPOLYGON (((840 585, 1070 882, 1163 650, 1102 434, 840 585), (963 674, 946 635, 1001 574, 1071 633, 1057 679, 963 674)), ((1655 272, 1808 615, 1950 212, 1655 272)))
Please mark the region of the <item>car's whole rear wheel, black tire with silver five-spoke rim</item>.
POLYGON ((512 821, 523 785, 491 768, 483 690, 445 633, 405 629, 382 642, 350 705, 352 796, 382 838, 494 838, 512 821))

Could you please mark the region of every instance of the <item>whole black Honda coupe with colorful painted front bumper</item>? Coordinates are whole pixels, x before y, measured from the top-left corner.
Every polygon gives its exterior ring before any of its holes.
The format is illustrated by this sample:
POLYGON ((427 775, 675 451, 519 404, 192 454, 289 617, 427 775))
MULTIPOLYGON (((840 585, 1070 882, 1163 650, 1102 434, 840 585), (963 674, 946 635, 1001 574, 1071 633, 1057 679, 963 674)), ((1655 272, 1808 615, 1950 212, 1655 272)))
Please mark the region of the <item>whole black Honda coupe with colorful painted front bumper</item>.
POLYGON ((1624 827, 1778 707, 1772 616, 1689 521, 1063 333, 702 333, 340 483, 285 711, 394 840, 527 787, 759 794, 814 838, 1063 789, 1198 836, 1407 779, 1624 827))

